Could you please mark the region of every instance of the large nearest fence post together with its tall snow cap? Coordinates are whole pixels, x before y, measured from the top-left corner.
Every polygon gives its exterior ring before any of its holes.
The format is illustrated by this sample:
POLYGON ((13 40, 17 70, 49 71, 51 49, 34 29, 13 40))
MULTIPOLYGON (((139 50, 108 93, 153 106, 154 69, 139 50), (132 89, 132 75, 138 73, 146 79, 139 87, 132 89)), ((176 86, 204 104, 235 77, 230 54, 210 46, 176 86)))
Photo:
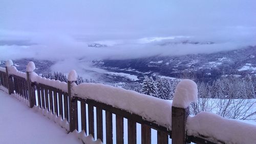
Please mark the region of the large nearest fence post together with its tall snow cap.
POLYGON ((172 103, 172 143, 187 143, 186 121, 189 115, 190 102, 197 101, 197 84, 184 79, 178 83, 172 103))

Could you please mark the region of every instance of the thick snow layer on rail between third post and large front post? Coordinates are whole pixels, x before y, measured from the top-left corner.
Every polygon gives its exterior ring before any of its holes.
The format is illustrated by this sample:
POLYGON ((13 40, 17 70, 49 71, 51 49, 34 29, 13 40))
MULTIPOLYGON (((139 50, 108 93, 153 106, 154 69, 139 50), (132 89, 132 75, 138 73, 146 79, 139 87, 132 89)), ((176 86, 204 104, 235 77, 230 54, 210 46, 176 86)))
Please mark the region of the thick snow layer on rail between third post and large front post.
POLYGON ((81 83, 71 89, 78 97, 112 105, 171 129, 172 102, 168 100, 99 83, 81 83))

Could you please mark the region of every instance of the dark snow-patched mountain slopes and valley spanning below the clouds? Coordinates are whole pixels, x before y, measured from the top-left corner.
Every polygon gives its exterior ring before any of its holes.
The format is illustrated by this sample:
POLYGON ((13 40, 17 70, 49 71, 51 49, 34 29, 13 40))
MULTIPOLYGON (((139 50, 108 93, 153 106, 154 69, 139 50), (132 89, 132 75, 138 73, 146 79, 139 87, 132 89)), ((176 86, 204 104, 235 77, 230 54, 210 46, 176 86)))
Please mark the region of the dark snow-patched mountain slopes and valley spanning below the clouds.
MULTIPOLYGON (((103 82, 141 82, 144 75, 167 78, 194 77, 197 80, 211 81, 221 76, 256 74, 256 46, 243 49, 222 51, 210 54, 188 54, 181 56, 151 56, 130 60, 94 60, 92 66, 104 69, 94 71, 97 79, 103 82)), ((20 71, 26 70, 29 61, 36 65, 38 74, 51 72, 56 62, 36 59, 14 60, 20 71)), ((79 60, 83 63, 83 60, 79 60)), ((84 62, 85 63, 85 62, 84 62)), ((88 61, 86 62, 88 63, 88 61)), ((4 64, 0 64, 4 67, 4 64)), ((89 70, 84 69, 84 73, 89 70)), ((82 75, 82 74, 80 74, 82 75)), ((92 77, 92 79, 95 79, 92 77)))

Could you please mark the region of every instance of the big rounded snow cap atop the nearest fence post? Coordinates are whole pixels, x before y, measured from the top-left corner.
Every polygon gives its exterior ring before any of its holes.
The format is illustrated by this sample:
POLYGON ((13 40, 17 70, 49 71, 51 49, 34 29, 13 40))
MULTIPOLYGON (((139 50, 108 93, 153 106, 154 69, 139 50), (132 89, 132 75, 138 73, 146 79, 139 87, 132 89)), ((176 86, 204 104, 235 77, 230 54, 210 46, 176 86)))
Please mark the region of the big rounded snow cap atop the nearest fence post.
POLYGON ((187 108, 190 102, 197 101, 197 94, 197 84, 193 80, 183 79, 176 87, 173 106, 187 108))

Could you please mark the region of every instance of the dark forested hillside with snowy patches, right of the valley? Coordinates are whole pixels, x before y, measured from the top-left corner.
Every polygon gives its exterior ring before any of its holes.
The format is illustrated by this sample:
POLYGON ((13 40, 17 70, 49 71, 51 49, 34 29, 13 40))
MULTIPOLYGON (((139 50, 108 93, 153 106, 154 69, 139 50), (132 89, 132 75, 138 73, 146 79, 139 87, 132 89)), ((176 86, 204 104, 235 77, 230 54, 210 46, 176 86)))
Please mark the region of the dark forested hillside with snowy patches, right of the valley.
POLYGON ((211 54, 151 56, 132 60, 95 60, 94 66, 112 72, 137 75, 185 77, 209 81, 222 75, 256 74, 256 46, 211 54))

